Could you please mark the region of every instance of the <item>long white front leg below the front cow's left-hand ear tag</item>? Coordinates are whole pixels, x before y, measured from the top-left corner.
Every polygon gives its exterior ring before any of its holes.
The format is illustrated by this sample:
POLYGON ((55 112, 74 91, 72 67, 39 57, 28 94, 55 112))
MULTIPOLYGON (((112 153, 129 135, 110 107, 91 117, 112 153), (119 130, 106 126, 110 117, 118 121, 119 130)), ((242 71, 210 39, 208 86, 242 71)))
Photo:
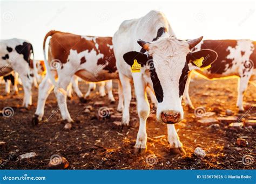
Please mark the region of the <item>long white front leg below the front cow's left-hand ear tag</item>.
POLYGON ((139 115, 139 131, 137 134, 134 151, 136 153, 145 153, 147 148, 146 121, 147 117, 149 117, 150 106, 149 102, 147 101, 146 84, 142 78, 142 75, 133 75, 133 81, 137 99, 137 110, 139 115))

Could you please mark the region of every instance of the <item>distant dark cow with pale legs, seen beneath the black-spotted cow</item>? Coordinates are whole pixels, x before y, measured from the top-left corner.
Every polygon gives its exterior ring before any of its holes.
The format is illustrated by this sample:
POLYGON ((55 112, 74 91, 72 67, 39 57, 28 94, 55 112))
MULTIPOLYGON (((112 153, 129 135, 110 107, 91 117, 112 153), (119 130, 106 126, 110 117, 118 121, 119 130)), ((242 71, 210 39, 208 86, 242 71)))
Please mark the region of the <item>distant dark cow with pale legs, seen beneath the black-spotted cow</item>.
POLYGON ((10 94, 10 87, 11 84, 14 88, 14 95, 18 94, 18 74, 15 72, 11 72, 9 75, 6 75, 3 77, 4 81, 5 81, 5 95, 9 95, 10 94))

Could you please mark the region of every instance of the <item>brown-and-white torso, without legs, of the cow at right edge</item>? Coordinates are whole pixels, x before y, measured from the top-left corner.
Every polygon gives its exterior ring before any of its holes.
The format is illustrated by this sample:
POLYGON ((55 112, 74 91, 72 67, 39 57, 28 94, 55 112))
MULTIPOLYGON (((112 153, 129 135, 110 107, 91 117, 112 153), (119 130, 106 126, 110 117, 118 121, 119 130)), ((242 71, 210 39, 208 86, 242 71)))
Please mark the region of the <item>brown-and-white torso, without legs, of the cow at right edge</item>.
POLYGON ((250 59, 255 61, 255 42, 251 40, 204 40, 194 48, 194 51, 199 49, 213 49, 218 53, 217 60, 212 64, 211 68, 201 71, 197 70, 208 77, 209 79, 240 76, 240 68, 244 66, 245 61, 250 59))

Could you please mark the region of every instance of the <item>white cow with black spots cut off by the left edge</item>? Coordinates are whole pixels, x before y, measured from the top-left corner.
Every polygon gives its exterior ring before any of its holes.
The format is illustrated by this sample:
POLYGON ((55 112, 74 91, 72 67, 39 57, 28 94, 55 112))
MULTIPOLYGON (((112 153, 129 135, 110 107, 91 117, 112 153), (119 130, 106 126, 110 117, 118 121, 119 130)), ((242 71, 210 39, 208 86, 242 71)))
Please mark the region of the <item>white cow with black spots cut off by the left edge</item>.
POLYGON ((17 38, 0 40, 0 76, 7 76, 12 71, 18 73, 24 89, 23 107, 25 108, 32 103, 31 55, 33 55, 33 47, 29 41, 17 38))

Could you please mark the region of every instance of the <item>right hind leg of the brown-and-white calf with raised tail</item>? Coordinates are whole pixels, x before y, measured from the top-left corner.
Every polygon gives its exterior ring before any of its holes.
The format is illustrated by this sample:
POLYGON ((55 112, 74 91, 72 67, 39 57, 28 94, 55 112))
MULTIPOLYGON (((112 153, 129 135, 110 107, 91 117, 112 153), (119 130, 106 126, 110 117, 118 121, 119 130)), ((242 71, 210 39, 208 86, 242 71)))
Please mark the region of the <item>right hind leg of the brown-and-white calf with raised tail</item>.
MULTIPOLYGON (((72 75, 71 75, 72 76, 72 75)), ((73 120, 70 117, 68 106, 66 104, 66 89, 69 86, 71 76, 66 76, 64 73, 59 75, 58 87, 55 87, 54 93, 58 101, 58 108, 62 119, 67 121, 64 129, 71 129, 73 120)))

